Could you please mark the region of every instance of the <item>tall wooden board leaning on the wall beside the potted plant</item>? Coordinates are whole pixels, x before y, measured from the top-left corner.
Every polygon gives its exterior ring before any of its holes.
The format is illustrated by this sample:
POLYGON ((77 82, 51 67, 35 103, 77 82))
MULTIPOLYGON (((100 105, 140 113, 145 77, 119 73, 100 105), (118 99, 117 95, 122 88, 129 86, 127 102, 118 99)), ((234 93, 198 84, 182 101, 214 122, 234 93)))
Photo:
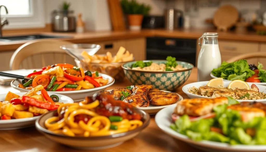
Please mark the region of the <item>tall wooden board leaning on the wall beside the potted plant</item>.
POLYGON ((124 15, 119 0, 107 0, 113 31, 126 30, 124 15))

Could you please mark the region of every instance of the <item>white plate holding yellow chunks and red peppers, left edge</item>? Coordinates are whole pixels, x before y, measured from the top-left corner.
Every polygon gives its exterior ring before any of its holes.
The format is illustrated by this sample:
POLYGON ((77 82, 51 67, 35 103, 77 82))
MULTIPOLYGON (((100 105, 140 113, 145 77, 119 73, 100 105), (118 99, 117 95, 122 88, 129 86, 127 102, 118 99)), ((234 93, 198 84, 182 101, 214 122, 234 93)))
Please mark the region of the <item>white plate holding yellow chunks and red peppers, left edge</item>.
MULTIPOLYGON (((25 92, 18 92, 15 93, 16 95, 23 96, 25 92)), ((38 93, 40 94, 40 93, 38 93)), ((7 93, 0 95, 0 101, 5 101, 7 93)), ((59 102, 63 103, 73 103, 74 101, 63 95, 59 95, 56 93, 48 93, 49 96, 57 95, 59 97, 59 102)), ((12 129, 19 129, 19 128, 26 128, 29 126, 34 126, 35 120, 38 119, 40 116, 31 117, 31 118, 22 118, 22 119, 11 119, 11 120, 0 120, 0 130, 12 130, 12 129)))

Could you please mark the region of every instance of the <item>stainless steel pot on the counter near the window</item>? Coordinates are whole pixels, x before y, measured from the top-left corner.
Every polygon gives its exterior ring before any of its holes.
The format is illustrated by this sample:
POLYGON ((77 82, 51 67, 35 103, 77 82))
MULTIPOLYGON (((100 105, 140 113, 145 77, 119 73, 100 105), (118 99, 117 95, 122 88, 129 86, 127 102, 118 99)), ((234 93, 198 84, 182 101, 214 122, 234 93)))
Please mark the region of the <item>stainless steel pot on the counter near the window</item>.
POLYGON ((75 32, 76 17, 74 11, 55 10, 53 11, 52 27, 55 32, 75 32))

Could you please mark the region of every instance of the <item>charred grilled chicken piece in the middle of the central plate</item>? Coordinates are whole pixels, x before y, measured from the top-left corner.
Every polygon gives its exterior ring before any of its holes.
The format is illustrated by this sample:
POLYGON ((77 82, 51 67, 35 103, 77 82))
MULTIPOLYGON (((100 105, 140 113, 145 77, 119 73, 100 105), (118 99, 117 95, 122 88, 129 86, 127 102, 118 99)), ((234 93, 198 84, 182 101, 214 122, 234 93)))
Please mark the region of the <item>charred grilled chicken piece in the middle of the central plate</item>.
POLYGON ((149 106, 147 95, 151 89, 152 85, 135 85, 132 89, 133 93, 124 98, 123 101, 134 107, 147 107, 149 106))

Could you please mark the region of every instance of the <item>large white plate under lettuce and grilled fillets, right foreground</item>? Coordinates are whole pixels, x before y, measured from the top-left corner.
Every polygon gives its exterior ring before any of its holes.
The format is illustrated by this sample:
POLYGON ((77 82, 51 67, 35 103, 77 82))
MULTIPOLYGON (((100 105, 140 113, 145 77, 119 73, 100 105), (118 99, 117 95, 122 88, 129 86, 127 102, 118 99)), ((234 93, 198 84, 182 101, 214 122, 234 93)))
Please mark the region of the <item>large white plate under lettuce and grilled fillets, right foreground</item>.
POLYGON ((241 152, 262 152, 266 151, 266 145, 234 145, 231 146, 227 143, 213 142, 213 141, 200 141, 196 142, 189 139, 186 135, 182 135, 169 126, 172 123, 171 115, 176 105, 168 106, 160 110, 155 116, 155 122, 163 132, 171 135, 172 137, 184 141, 193 147, 198 149, 209 151, 209 152, 230 152, 230 151, 241 151, 241 152))

